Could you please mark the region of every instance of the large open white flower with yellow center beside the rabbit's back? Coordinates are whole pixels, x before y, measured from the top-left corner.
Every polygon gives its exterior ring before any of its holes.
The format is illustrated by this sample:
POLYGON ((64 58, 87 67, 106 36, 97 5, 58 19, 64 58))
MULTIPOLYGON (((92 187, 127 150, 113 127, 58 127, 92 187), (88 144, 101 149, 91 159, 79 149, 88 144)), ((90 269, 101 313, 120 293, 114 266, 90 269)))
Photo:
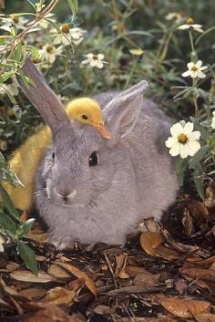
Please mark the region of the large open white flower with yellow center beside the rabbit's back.
POLYGON ((182 126, 180 123, 174 124, 170 128, 171 137, 165 144, 170 149, 169 154, 172 157, 180 155, 182 159, 188 156, 192 157, 200 150, 200 131, 193 131, 193 123, 188 122, 182 126))

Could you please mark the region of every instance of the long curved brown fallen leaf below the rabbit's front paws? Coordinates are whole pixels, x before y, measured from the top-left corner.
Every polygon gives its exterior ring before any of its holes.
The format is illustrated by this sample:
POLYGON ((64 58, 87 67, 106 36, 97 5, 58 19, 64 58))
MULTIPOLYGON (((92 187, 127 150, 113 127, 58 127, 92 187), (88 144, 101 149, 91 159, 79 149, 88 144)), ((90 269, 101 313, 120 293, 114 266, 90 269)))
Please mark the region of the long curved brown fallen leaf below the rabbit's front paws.
MULTIPOLYGON (((72 274, 75 275, 78 278, 84 278, 85 279, 85 284, 88 288, 88 290, 94 295, 97 296, 97 286, 95 282, 93 281, 92 278, 88 277, 87 274, 83 271, 81 271, 79 268, 77 268, 74 265, 71 265, 67 262, 55 262, 55 265, 58 265, 60 268, 64 269, 67 274, 72 274)), ((48 271, 50 273, 50 270, 48 271)), ((55 275, 54 275, 55 276, 55 275)), ((57 277, 57 275, 56 275, 57 277)))

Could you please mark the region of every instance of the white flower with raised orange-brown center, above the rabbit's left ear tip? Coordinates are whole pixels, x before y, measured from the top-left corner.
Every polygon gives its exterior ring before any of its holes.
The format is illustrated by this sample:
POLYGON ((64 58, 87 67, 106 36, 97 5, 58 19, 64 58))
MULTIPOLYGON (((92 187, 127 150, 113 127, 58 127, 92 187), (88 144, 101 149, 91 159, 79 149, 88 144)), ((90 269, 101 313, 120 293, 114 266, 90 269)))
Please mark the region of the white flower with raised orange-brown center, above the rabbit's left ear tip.
POLYGON ((58 33, 56 29, 51 29, 50 32, 55 36, 53 41, 54 45, 63 44, 65 46, 73 43, 74 45, 79 45, 83 39, 85 30, 81 28, 70 28, 67 24, 60 27, 61 33, 58 33))

